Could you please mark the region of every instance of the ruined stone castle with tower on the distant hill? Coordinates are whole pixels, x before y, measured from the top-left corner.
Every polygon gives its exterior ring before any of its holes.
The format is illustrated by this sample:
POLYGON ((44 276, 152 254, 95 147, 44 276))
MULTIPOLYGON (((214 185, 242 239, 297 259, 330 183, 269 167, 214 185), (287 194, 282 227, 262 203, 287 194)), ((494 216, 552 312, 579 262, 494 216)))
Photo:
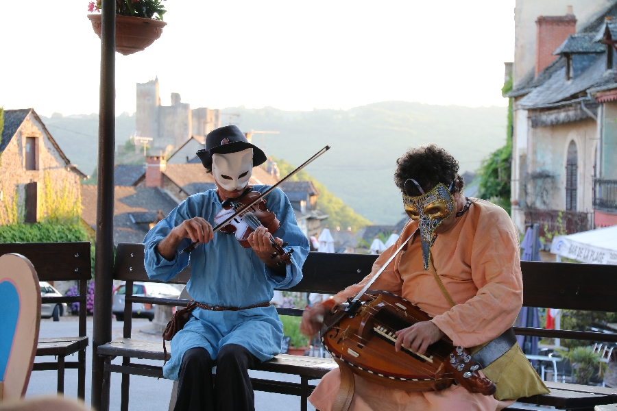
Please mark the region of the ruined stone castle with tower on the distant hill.
POLYGON ((152 138, 155 153, 168 153, 191 136, 205 136, 221 126, 221 110, 195 108, 182 103, 180 94, 171 93, 171 105, 161 105, 158 77, 137 84, 136 134, 152 138))

